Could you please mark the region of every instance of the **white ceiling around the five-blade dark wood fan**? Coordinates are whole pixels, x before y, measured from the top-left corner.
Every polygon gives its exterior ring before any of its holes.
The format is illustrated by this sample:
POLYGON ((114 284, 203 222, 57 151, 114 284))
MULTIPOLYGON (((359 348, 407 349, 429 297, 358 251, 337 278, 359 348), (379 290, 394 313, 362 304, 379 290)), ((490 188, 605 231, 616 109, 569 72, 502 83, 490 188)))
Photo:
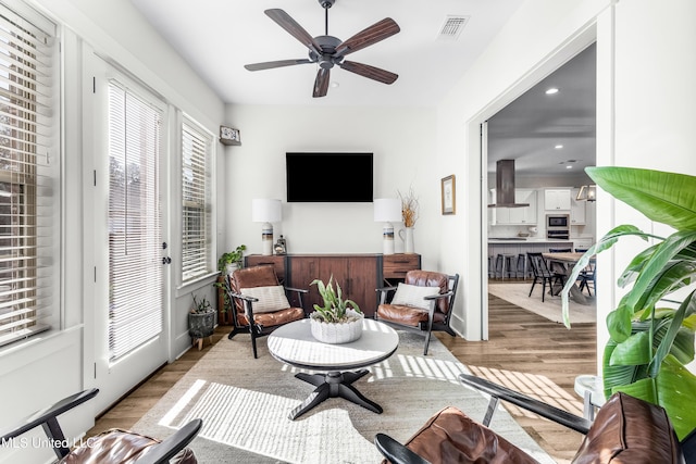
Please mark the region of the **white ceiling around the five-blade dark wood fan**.
POLYGON ((346 40, 391 17, 401 32, 350 54, 399 75, 385 85, 334 67, 312 98, 316 65, 250 72, 245 64, 306 59, 308 49, 263 12, 279 8, 311 36, 324 35, 318 0, 130 0, 227 103, 435 105, 481 54, 522 0, 336 0, 328 35, 346 40), (467 15, 458 40, 437 36, 447 15, 467 15))

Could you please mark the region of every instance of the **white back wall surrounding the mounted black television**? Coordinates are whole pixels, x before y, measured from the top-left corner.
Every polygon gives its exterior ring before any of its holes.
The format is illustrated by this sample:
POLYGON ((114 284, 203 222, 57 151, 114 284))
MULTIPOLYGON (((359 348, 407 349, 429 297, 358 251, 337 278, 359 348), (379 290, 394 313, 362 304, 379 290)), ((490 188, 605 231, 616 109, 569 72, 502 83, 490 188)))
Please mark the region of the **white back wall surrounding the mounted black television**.
MULTIPOLYGON (((382 223, 372 203, 287 203, 288 151, 374 153, 374 198, 397 197, 412 186, 419 198, 415 252, 424 268, 438 268, 439 178, 435 178, 433 109, 229 105, 227 121, 241 131, 241 146, 225 153, 225 228, 221 243, 261 252, 261 224, 251 222, 251 199, 283 201, 283 221, 274 224, 290 253, 381 253, 382 223)), ((341 173, 326 173, 316 188, 349 189, 341 173)), ((395 229, 403 224, 395 224, 395 229)), ((403 242, 396 239, 396 251, 403 242)), ((452 272, 455 272, 452 269, 452 272)))

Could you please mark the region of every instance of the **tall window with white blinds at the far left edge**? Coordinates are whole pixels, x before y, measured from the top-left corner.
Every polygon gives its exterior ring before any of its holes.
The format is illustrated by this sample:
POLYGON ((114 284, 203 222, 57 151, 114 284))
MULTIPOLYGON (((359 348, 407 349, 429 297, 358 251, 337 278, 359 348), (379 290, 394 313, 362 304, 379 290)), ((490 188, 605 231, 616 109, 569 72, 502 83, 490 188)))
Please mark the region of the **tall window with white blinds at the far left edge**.
POLYGON ((0 346, 60 314, 55 26, 25 10, 0 5, 0 346))

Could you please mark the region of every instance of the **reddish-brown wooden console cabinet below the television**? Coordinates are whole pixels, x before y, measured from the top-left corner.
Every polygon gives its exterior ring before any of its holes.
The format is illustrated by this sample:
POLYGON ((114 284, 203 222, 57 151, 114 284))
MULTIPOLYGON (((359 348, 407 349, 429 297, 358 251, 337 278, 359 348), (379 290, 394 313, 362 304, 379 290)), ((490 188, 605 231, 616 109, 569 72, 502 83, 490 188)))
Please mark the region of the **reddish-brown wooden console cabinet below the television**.
POLYGON ((420 254, 250 254, 245 258, 246 266, 270 264, 275 267, 278 279, 287 287, 304 288, 310 292, 302 297, 304 310, 311 311, 322 299, 316 286, 310 286, 319 278, 324 283, 333 275, 344 292, 353 300, 365 314, 373 317, 377 309, 378 287, 385 281, 396 285, 406 273, 421 268, 420 254))

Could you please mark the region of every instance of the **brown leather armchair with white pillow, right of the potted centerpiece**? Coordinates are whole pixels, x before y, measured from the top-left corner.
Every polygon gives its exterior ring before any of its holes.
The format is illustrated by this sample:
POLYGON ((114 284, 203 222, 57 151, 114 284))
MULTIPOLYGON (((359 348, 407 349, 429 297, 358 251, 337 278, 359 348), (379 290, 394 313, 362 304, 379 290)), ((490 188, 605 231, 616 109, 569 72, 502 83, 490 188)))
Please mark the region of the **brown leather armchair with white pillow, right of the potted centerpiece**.
POLYGON ((409 271, 403 284, 415 287, 438 287, 436 294, 422 298, 422 303, 413 301, 403 304, 397 300, 398 287, 378 288, 380 305, 375 312, 375 319, 387 323, 396 328, 406 328, 425 331, 425 347, 423 355, 427 354, 433 330, 443 330, 452 337, 455 331, 449 327, 451 310, 457 297, 459 274, 447 275, 432 271, 409 271), (395 291, 395 293, 391 293, 395 291), (388 297, 391 296, 391 302, 388 297))

